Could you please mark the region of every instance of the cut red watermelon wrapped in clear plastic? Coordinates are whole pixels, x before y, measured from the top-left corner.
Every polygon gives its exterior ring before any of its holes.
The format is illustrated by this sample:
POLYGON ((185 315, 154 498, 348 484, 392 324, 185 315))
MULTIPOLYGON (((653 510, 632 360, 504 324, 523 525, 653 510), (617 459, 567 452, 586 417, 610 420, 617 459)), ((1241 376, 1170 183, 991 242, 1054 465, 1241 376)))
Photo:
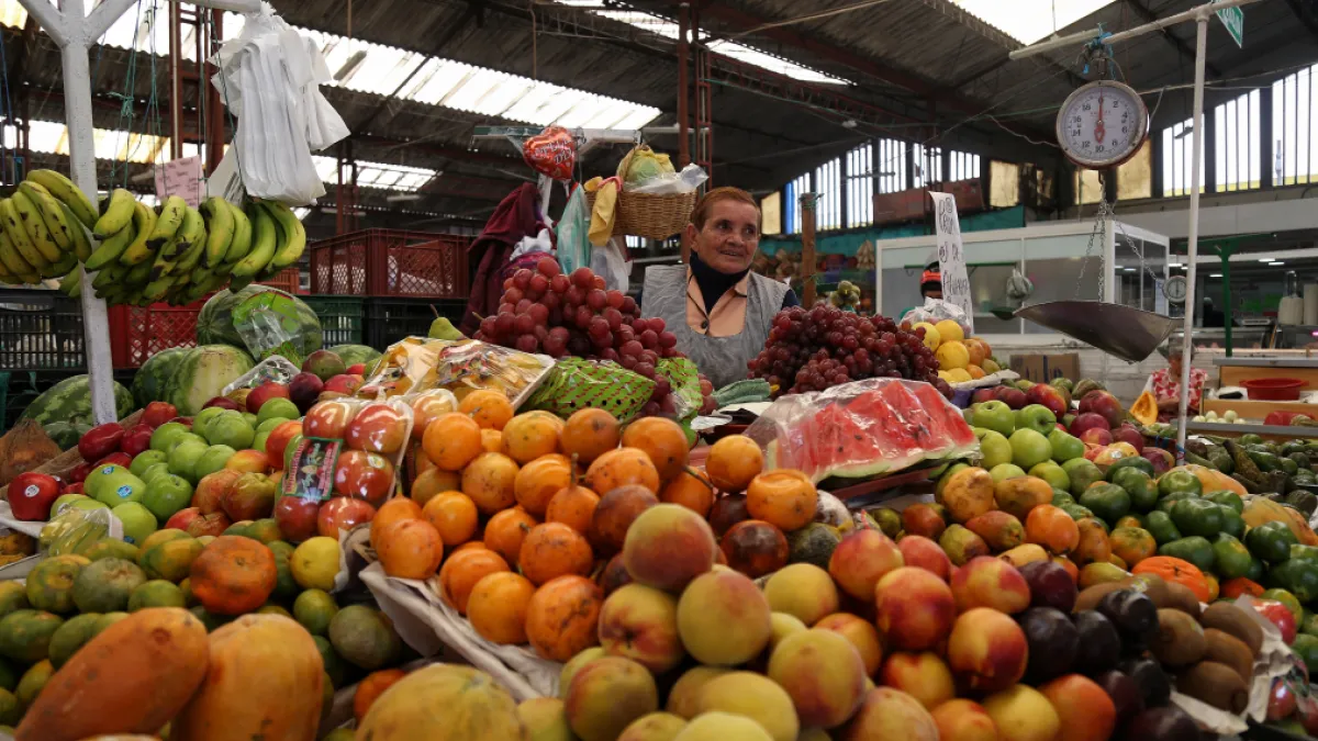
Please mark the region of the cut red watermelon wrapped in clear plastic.
POLYGON ((938 389, 902 378, 782 397, 746 434, 764 448, 770 468, 796 468, 815 483, 888 476, 979 450, 938 389))

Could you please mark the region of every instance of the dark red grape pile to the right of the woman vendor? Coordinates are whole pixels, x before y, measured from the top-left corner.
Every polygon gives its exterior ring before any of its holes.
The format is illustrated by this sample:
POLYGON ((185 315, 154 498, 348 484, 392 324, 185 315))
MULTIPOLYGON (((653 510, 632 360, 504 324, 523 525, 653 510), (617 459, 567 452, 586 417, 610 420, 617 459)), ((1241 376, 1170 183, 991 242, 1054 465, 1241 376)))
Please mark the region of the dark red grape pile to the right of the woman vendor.
POLYGON ((938 377, 938 361, 923 338, 923 328, 905 331, 887 316, 793 306, 774 316, 764 349, 747 368, 753 378, 766 378, 783 393, 886 377, 927 381, 952 398, 952 386, 938 377))

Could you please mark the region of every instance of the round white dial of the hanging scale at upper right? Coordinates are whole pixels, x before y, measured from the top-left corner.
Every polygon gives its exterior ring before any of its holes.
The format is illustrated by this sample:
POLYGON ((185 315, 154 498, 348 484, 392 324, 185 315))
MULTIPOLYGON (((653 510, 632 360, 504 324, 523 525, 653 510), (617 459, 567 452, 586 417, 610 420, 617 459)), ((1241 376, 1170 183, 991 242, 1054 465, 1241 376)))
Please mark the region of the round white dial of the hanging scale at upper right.
POLYGON ((1112 80, 1091 82, 1070 94, 1057 113, 1057 142, 1077 165, 1115 167, 1148 137, 1148 108, 1137 92, 1112 80))

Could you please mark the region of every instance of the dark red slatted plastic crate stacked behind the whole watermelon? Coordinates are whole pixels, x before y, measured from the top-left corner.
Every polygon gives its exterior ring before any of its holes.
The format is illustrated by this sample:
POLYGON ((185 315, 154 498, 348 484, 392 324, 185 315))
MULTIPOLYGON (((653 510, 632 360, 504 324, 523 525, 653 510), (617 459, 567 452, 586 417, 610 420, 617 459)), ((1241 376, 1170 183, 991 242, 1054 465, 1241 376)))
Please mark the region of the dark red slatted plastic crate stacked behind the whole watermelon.
POLYGON ((311 293, 467 298, 471 237, 365 229, 311 244, 311 293))

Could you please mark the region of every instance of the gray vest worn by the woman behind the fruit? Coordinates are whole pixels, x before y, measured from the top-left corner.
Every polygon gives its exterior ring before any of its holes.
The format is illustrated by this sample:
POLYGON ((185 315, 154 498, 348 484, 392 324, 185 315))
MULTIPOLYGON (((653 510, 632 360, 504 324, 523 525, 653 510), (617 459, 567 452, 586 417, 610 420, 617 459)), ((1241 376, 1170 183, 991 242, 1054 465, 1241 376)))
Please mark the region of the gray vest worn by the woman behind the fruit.
POLYGON ((750 273, 746 326, 738 335, 710 338, 687 326, 687 266, 655 265, 646 269, 642 312, 663 319, 668 331, 677 335, 677 349, 718 389, 746 377, 746 364, 764 349, 787 290, 784 283, 750 273))

